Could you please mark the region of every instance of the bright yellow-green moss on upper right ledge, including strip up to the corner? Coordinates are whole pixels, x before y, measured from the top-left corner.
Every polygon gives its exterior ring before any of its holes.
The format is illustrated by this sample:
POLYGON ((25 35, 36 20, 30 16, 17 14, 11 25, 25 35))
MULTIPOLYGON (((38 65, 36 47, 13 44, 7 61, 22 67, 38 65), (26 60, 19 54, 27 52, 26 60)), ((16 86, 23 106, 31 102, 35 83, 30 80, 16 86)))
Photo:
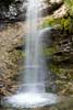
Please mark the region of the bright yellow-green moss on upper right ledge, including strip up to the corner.
POLYGON ((61 25, 61 30, 63 29, 64 31, 73 32, 73 0, 64 0, 66 8, 69 9, 65 18, 58 18, 54 19, 53 16, 47 18, 42 24, 41 28, 47 28, 47 26, 53 26, 57 24, 61 25))

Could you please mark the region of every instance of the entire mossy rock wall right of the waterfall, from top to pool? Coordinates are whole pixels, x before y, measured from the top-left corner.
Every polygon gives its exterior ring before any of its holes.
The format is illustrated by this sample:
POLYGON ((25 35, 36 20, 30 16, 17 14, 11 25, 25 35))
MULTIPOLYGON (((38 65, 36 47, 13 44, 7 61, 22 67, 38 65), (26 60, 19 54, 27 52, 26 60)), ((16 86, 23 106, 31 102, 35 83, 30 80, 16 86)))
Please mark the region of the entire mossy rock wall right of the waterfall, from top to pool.
MULTIPOLYGON (((51 45, 47 43, 44 54, 49 69, 57 76, 58 94, 73 96, 73 2, 64 1, 65 3, 62 0, 51 0, 51 3, 49 1, 49 4, 54 4, 54 2, 62 2, 62 4, 44 18, 41 28, 54 28, 50 36, 52 43, 51 45)), ((49 35, 47 40, 49 41, 49 35)))

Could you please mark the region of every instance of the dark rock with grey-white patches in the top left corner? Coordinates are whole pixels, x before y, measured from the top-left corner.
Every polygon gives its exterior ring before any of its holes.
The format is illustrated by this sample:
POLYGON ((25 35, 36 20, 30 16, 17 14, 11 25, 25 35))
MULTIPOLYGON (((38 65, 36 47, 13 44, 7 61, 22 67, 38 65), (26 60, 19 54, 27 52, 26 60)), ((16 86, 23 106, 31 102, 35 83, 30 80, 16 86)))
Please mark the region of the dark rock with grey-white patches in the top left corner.
POLYGON ((24 21, 26 13, 26 1, 0 0, 0 22, 24 21), (23 2, 24 6, 23 7, 23 2))

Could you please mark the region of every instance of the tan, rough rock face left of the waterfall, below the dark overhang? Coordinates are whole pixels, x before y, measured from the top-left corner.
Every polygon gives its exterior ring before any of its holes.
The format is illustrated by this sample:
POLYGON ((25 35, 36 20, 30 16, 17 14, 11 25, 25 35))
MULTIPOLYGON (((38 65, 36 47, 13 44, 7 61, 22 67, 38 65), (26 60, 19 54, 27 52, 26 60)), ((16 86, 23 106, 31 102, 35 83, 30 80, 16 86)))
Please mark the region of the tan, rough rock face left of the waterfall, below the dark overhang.
POLYGON ((0 96, 9 96, 17 89, 15 78, 20 75, 23 38, 23 24, 8 24, 0 31, 0 96))

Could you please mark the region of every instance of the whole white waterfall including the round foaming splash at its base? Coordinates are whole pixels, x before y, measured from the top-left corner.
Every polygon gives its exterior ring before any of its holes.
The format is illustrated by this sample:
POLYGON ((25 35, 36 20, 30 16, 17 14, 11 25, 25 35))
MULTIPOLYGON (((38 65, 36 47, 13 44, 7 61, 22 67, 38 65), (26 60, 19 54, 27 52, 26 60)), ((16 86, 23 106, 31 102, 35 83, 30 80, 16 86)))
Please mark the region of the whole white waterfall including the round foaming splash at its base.
POLYGON ((42 0, 27 0, 24 86, 20 92, 7 98, 7 102, 13 107, 34 108, 58 101, 56 95, 45 91, 46 69, 41 54, 42 34, 38 28, 41 4, 42 0))

